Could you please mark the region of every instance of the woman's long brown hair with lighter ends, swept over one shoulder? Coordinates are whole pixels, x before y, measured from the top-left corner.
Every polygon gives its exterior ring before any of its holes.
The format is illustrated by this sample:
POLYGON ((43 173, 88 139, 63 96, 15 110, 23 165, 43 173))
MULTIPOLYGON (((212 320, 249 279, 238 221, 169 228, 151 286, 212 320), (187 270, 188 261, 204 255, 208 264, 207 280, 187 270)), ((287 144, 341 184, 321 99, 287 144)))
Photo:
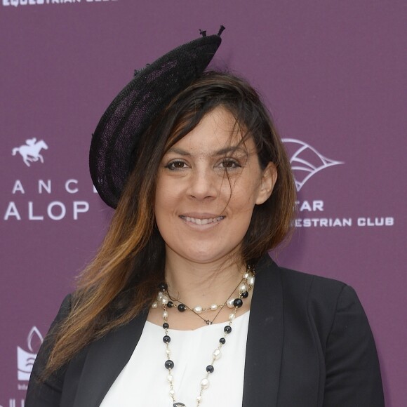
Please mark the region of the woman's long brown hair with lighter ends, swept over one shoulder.
POLYGON ((156 117, 135 148, 134 168, 93 262, 81 273, 69 314, 51 331, 45 376, 88 343, 131 321, 151 304, 164 281, 165 246, 154 220, 156 174, 162 156, 215 107, 231 112, 253 138, 264 169, 271 161, 277 180, 272 195, 254 208, 243 238, 243 262, 278 246, 293 225, 295 184, 272 119, 258 93, 229 73, 206 72, 156 117))

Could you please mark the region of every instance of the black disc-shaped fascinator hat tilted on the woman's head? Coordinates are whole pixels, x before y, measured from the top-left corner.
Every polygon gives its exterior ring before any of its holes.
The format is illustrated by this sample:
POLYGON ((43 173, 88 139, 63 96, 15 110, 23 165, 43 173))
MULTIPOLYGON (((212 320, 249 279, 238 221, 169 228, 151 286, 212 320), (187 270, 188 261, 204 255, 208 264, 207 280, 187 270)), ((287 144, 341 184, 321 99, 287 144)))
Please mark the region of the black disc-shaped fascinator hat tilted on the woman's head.
POLYGON ((171 99, 198 78, 220 46, 218 34, 201 36, 173 49, 145 68, 114 98, 91 142, 89 166, 100 197, 116 208, 132 169, 138 138, 171 99))

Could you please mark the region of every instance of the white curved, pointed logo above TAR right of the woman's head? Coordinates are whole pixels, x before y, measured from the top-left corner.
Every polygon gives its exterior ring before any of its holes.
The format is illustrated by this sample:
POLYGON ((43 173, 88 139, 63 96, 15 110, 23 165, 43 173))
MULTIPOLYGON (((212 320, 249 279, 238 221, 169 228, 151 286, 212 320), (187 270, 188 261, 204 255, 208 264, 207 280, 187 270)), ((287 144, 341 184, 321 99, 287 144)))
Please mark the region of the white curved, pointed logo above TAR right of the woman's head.
POLYGON ((291 143, 296 149, 290 158, 291 168, 295 177, 297 192, 313 175, 325 168, 344 164, 342 161, 327 159, 306 142, 294 138, 283 138, 285 144, 291 143))

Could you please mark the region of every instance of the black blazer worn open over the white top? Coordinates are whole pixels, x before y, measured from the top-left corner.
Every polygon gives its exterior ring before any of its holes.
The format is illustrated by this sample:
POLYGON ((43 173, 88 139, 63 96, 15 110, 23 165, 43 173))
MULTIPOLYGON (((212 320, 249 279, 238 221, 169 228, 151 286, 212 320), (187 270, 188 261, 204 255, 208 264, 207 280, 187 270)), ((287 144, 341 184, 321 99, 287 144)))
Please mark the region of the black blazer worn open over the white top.
MULTIPOLYGON (((256 272, 243 407, 384 406, 375 343, 354 290, 339 281, 283 269, 268 256, 256 272)), ((55 321, 68 310, 69 296, 55 321)), ((40 384, 45 340, 25 406, 99 406, 130 359, 146 318, 147 312, 140 314, 88 345, 40 384)))

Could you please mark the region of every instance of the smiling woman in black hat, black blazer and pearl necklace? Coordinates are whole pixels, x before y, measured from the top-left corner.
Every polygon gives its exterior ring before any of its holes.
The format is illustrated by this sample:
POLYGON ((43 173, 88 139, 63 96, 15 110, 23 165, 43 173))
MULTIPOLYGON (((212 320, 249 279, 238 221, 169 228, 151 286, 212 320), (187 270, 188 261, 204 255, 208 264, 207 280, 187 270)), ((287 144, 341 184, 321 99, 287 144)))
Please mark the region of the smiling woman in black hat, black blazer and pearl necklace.
POLYGON ((293 177, 253 88, 204 72, 219 34, 138 72, 102 116, 91 173, 116 213, 27 407, 384 405, 352 288, 267 255, 290 232, 293 177))

